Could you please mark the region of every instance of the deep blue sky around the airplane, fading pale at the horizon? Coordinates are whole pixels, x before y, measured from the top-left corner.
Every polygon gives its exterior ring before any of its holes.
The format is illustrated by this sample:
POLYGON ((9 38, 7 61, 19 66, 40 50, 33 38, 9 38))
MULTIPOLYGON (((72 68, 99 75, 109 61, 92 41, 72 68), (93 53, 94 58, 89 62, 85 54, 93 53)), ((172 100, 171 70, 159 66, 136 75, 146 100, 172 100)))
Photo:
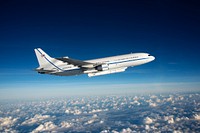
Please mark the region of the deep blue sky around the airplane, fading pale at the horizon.
POLYGON ((0 98, 199 90, 199 7, 193 0, 1 1, 0 98), (52 57, 148 52, 156 60, 119 74, 57 77, 33 71, 37 47, 52 57))

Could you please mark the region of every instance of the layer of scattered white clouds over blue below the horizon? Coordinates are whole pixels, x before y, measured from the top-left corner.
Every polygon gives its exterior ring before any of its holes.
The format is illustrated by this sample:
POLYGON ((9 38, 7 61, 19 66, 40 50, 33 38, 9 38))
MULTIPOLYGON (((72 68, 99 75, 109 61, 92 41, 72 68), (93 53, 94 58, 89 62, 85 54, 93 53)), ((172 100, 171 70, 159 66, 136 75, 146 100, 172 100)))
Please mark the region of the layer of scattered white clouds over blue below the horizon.
POLYGON ((0 132, 196 132, 199 96, 95 96, 2 104, 0 132))

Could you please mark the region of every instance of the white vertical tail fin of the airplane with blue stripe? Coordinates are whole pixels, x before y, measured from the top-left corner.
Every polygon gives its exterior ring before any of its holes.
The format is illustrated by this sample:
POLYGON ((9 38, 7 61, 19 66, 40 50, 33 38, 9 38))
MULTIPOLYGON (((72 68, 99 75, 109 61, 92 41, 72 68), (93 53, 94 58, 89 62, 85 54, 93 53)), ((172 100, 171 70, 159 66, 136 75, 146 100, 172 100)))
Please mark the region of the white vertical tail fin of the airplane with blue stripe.
POLYGON ((34 49, 35 54, 38 59, 38 63, 40 65, 39 68, 44 68, 49 64, 49 62, 53 59, 48 54, 46 54, 41 48, 34 49))

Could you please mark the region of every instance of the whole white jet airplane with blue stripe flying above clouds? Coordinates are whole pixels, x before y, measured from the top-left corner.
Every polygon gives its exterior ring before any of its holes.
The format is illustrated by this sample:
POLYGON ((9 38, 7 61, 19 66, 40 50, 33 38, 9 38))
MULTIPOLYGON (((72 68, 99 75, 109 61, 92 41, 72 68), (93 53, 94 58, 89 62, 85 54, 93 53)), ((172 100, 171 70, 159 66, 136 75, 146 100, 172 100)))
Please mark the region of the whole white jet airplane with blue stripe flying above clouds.
POLYGON ((124 72, 128 67, 149 63, 155 59, 148 53, 131 53, 93 60, 77 60, 69 57, 52 58, 41 48, 34 49, 40 74, 72 76, 88 74, 89 77, 124 72))

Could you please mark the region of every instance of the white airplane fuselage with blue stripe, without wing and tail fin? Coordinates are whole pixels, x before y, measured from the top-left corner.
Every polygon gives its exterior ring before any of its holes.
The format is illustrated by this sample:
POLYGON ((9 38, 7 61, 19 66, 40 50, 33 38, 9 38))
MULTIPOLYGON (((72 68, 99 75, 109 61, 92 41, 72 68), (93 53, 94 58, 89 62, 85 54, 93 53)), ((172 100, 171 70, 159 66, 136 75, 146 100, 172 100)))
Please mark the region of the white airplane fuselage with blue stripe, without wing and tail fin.
POLYGON ((51 62, 50 65, 52 65, 54 67, 53 69, 56 71, 49 74, 55 74, 60 76, 79 75, 83 73, 87 73, 89 76, 104 75, 109 73, 122 72, 125 71, 127 67, 142 65, 151 62, 154 59, 155 57, 149 55, 148 53, 131 53, 85 61, 94 64, 105 64, 102 65, 102 67, 104 67, 101 68, 102 71, 98 71, 94 68, 84 70, 83 68, 80 68, 78 66, 55 60, 54 62, 51 62))

